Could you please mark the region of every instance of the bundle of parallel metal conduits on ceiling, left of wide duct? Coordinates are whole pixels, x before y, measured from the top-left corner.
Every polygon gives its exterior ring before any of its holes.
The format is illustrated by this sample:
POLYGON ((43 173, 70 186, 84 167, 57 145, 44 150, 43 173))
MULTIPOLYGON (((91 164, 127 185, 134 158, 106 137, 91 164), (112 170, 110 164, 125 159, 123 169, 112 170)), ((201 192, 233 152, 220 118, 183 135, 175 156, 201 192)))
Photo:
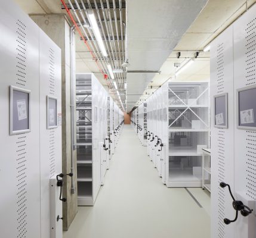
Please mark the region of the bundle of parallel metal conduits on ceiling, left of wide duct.
MULTIPOLYGON (((75 19, 79 24, 79 28, 82 30, 82 33, 86 37, 86 41, 88 42, 88 45, 90 45, 90 48, 93 52, 92 58, 95 60, 96 64, 100 65, 100 67, 103 69, 103 72, 106 74, 109 74, 109 71, 107 70, 107 64, 110 64, 113 70, 115 68, 122 68, 122 63, 125 59, 127 59, 126 30, 122 17, 122 0, 119 0, 119 19, 117 14, 118 8, 116 8, 115 0, 113 0, 112 3, 110 3, 109 0, 106 0, 106 3, 104 4, 103 0, 100 0, 99 4, 97 4, 97 2, 93 0, 94 6, 92 6, 90 0, 87 0, 87 5, 85 4, 84 0, 80 0, 80 3, 78 2, 78 0, 74 0, 75 4, 72 4, 70 0, 67 1, 69 2, 69 6, 72 10, 70 11, 70 14, 73 14, 75 16, 75 19), (98 8, 98 5, 100 5, 101 9, 98 8), (110 5, 113 8, 110 8, 110 5), (97 12, 98 22, 100 23, 102 36, 106 45, 106 51, 110 57, 104 57, 101 54, 98 42, 97 40, 95 40, 94 37, 94 33, 90 28, 84 27, 88 26, 88 9, 92 10, 93 8, 97 12), (113 11, 113 17, 111 11, 113 11), (101 20, 101 12, 104 20, 101 20), (118 21, 120 22, 120 24, 118 23, 118 21), (118 26, 120 27, 120 31, 118 29, 118 26), (120 32, 121 35, 119 34, 120 32), (124 37, 125 42, 123 42, 124 37)), ((116 84, 118 86, 118 91, 120 93, 122 104, 125 105, 125 82, 127 82, 127 72, 125 72, 125 69, 123 73, 115 73, 115 79, 116 84)), ((110 77, 110 74, 109 80, 107 80, 107 84, 109 86, 110 92, 112 93, 112 95, 114 94, 116 101, 120 105, 119 97, 116 93, 115 86, 113 84, 113 80, 110 77)), ((122 105, 120 106, 122 107, 122 105)))

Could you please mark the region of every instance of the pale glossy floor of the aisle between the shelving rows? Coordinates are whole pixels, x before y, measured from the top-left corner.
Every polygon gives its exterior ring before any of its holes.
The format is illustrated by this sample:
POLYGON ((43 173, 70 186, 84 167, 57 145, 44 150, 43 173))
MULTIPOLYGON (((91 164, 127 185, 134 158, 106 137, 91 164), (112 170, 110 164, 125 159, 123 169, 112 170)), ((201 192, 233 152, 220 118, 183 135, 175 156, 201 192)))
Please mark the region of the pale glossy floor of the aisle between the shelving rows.
POLYGON ((79 207, 64 238, 209 238, 210 198, 200 188, 168 189, 132 127, 124 126, 105 184, 79 207))

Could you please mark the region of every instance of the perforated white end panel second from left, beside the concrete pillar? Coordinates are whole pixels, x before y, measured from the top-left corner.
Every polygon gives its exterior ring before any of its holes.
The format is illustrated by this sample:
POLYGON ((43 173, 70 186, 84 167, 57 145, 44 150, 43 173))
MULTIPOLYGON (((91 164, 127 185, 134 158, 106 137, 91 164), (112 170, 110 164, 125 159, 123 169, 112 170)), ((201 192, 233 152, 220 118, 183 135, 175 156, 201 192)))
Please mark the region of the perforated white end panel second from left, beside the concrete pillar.
POLYGON ((61 126, 47 129, 47 96, 57 98, 57 114, 61 114, 61 51, 42 30, 39 30, 39 58, 41 237, 60 238, 62 237, 62 220, 58 220, 56 224, 55 221, 57 215, 62 217, 62 202, 57 199, 53 206, 54 201, 50 201, 50 178, 55 178, 56 174, 62 172, 61 126), (56 211, 50 212, 50 205, 56 211), (50 226, 51 224, 54 226, 50 226))

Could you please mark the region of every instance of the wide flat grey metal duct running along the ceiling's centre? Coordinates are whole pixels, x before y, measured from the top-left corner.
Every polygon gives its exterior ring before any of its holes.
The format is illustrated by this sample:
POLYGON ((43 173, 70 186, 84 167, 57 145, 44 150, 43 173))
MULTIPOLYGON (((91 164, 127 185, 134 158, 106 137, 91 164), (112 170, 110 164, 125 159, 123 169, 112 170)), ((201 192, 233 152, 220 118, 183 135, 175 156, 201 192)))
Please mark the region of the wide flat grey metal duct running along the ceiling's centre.
POLYGON ((134 107, 207 0, 127 0, 127 111, 134 107))

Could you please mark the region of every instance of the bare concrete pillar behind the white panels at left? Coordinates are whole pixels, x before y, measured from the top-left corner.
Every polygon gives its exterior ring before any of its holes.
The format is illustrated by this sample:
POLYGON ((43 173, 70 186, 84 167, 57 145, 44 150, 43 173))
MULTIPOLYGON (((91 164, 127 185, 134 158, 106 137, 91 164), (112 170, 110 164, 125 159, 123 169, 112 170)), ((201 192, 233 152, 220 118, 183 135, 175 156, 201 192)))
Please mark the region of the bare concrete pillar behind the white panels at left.
MULTIPOLYGON (((70 105, 75 105, 75 102, 70 101, 70 26, 64 14, 30 15, 30 17, 61 48, 62 172, 70 173, 71 153, 73 153, 75 159, 73 164, 74 181, 76 181, 76 151, 72 150, 70 123, 70 105)), ((78 211, 76 183, 74 185, 75 193, 72 194, 71 178, 64 179, 63 198, 67 198, 67 202, 63 202, 63 230, 69 228, 78 211)))

